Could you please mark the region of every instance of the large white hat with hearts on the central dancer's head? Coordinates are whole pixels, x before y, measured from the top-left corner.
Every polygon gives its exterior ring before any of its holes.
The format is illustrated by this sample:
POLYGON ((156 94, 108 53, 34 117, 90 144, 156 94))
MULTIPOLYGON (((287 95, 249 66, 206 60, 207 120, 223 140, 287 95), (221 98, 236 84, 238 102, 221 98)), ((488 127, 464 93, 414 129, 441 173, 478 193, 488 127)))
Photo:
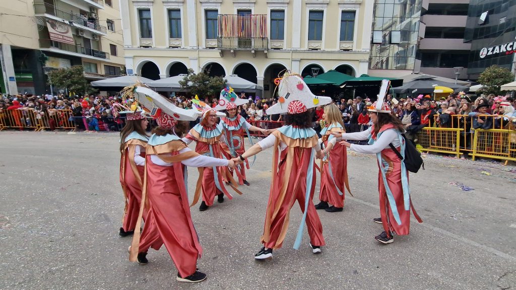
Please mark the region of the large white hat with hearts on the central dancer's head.
POLYGON ((324 106, 331 103, 330 97, 316 96, 303 81, 300 75, 286 72, 278 83, 278 103, 267 109, 267 114, 288 113, 288 105, 292 101, 299 101, 306 109, 324 106))

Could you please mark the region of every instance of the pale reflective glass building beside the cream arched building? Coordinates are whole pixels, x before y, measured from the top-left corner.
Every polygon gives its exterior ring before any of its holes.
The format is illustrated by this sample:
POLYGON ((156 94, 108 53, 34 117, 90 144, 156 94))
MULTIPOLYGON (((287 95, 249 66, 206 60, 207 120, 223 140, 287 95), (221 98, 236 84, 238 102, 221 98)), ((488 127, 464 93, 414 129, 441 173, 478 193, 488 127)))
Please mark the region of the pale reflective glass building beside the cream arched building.
POLYGON ((375 0, 369 69, 413 70, 422 0, 375 0))

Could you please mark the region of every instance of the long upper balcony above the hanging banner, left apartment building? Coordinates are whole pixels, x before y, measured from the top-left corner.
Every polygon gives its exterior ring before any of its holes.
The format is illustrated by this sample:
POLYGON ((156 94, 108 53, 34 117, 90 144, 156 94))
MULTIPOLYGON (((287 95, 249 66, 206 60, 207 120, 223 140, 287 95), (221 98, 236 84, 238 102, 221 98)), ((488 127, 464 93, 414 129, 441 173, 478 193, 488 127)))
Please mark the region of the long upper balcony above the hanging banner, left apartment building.
POLYGON ((98 35, 107 36, 107 27, 100 25, 99 21, 94 18, 88 18, 82 14, 74 11, 64 11, 54 5, 43 2, 34 3, 34 13, 36 16, 43 16, 49 19, 60 21, 70 26, 89 30, 98 35))

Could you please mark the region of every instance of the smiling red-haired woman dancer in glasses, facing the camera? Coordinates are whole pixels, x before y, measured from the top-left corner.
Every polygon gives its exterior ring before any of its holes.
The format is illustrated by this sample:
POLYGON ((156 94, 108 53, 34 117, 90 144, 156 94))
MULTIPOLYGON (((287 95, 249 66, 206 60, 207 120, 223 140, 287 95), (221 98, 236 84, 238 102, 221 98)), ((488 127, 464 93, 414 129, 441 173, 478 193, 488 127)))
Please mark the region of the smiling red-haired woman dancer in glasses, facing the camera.
MULTIPOLYGON (((225 144, 227 142, 224 137, 224 128, 217 124, 217 117, 223 117, 225 114, 210 108, 203 101, 200 101, 197 96, 192 99, 192 102, 195 108, 193 111, 200 115, 201 122, 190 129, 186 137, 183 138, 183 142, 188 145, 192 141, 196 141, 195 151, 201 155, 231 159, 230 150, 225 144)), ((192 205, 197 203, 201 191, 200 211, 205 211, 211 207, 215 196, 217 196, 218 202, 224 202, 224 194, 232 199, 233 196, 223 186, 224 181, 227 181, 236 193, 242 194, 236 189, 238 185, 226 167, 199 167, 199 180, 197 181, 192 205)))

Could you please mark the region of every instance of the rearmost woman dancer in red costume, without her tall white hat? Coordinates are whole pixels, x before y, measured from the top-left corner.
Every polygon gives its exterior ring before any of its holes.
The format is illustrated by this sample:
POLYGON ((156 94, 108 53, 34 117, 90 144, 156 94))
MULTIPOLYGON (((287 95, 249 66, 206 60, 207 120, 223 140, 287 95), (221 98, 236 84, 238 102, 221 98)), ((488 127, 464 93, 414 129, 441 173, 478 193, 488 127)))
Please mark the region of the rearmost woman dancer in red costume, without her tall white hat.
MULTIPOLYGON (((227 141, 227 145, 230 149, 231 156, 237 157, 241 153, 244 153, 246 151, 246 148, 244 147, 244 132, 247 132, 247 137, 249 138, 249 141, 252 143, 251 137, 249 135, 249 130, 260 131, 263 134, 267 134, 267 130, 252 126, 242 116, 237 114, 235 103, 227 103, 225 108, 228 112, 228 115, 226 117, 221 118, 219 124, 224 127, 225 140, 227 141)), ((246 159, 244 163, 245 164, 242 164, 241 166, 239 166, 239 168, 235 170, 237 170, 238 183, 240 185, 249 186, 249 182, 247 182, 246 180, 245 170, 246 167, 247 169, 249 169, 249 160, 246 159)))

